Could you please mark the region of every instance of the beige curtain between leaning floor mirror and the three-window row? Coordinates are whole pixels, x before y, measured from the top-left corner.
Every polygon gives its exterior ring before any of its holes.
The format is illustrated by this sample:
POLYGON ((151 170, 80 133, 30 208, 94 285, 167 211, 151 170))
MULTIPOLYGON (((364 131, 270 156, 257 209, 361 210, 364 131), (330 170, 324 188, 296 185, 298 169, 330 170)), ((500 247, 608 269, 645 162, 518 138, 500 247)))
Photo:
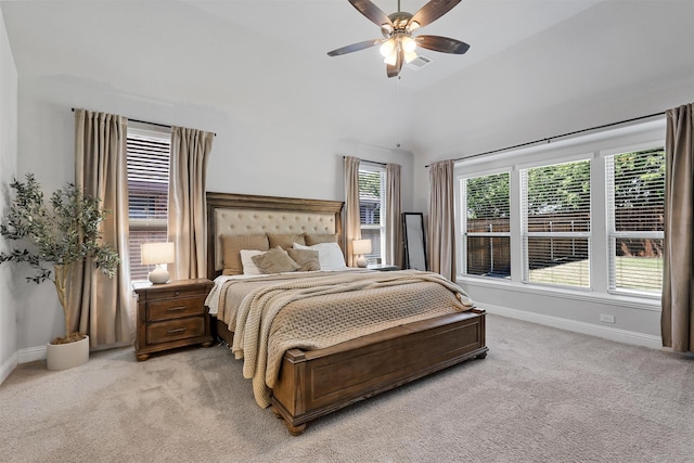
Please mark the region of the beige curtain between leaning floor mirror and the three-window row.
POLYGON ((455 209, 453 201, 453 160, 429 166, 429 270, 455 279, 455 209))

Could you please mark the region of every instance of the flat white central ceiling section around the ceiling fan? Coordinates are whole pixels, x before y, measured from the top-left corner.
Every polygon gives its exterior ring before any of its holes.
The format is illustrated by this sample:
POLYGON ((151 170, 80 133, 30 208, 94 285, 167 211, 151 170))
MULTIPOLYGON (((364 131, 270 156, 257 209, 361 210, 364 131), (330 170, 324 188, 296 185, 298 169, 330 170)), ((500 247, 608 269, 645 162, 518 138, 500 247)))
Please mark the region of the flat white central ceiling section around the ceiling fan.
MULTIPOLYGON (((402 86, 421 90, 460 73, 483 60, 513 47, 600 0, 464 0, 419 34, 451 37, 471 44, 464 55, 428 50, 420 54, 432 60, 424 69, 406 67, 402 86), (422 70, 421 73, 419 70, 422 70)), ((327 57, 326 53, 347 44, 382 38, 380 28, 347 0, 323 1, 190 1, 195 8, 230 25, 284 42, 310 60, 326 60, 355 77, 386 79, 377 47, 327 57)), ((398 11, 397 0, 375 0, 386 14, 398 11)), ((414 14, 426 2, 402 0, 400 9, 414 14)))

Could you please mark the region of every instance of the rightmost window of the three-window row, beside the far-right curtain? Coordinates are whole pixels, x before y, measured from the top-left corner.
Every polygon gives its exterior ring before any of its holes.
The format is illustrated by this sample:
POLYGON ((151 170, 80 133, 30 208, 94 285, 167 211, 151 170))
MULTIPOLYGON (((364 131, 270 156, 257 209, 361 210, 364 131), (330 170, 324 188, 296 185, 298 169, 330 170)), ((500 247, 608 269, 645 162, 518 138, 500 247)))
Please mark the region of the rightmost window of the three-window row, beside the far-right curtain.
POLYGON ((663 147, 605 157, 609 290, 660 293, 665 211, 663 147))

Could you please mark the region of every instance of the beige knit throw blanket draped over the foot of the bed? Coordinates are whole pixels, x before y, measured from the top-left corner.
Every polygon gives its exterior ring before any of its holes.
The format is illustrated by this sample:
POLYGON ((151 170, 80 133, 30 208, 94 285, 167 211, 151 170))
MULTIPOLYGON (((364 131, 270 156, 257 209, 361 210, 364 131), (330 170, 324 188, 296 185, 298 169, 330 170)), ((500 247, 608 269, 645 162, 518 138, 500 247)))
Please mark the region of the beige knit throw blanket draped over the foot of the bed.
POLYGON ((234 332, 232 351, 244 361, 244 377, 253 380, 256 402, 266 408, 288 349, 322 349, 472 307, 465 292, 438 273, 319 273, 256 285, 229 327, 234 332))

